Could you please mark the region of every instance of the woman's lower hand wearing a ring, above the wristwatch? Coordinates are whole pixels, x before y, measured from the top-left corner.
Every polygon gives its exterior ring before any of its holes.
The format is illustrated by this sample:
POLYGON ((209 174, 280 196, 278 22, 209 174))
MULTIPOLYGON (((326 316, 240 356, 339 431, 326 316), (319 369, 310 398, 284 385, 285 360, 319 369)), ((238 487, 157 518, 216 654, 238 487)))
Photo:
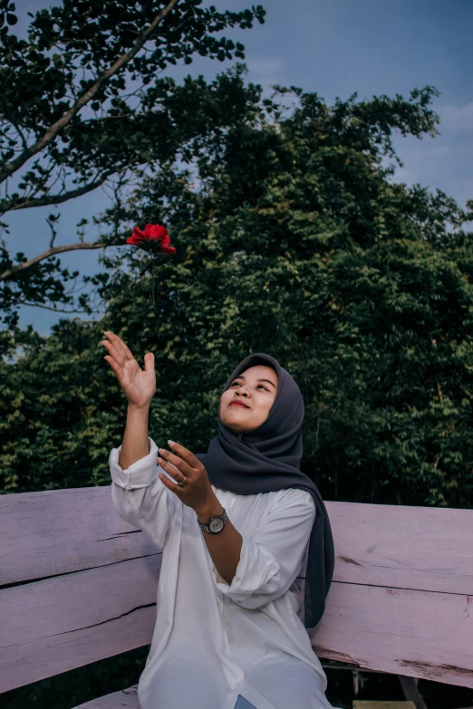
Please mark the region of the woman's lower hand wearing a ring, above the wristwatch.
POLYGON ((171 443, 173 444, 171 447, 174 453, 169 453, 165 448, 159 448, 159 454, 162 455, 162 458, 158 458, 158 462, 161 468, 176 482, 173 483, 166 475, 161 473, 159 478, 169 490, 178 495, 182 503, 199 513, 200 510, 206 508, 216 498, 208 479, 207 470, 188 448, 172 441, 168 441, 168 443, 169 446, 171 446, 171 443), (175 465, 178 470, 169 465, 170 463, 175 465), (182 486, 178 484, 181 482, 184 482, 182 486))

